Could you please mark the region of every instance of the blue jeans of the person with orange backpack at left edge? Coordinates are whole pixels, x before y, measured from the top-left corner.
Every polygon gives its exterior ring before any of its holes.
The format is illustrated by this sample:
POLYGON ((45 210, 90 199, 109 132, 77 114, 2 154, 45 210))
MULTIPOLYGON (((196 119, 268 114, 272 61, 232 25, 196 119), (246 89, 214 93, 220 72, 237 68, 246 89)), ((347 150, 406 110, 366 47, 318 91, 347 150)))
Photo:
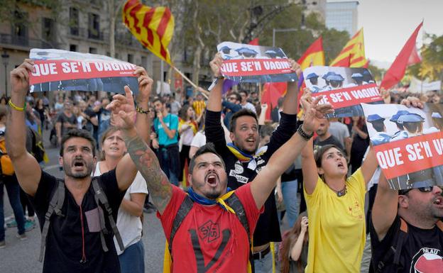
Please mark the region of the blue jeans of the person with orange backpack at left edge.
POLYGON ((9 203, 11 204, 14 217, 16 218, 18 234, 25 233, 25 216, 23 214, 23 207, 20 203, 20 186, 18 186, 17 177, 14 174, 11 177, 1 177, 0 182, 0 241, 5 238, 4 231, 4 205, 3 192, 6 187, 8 193, 9 203))

